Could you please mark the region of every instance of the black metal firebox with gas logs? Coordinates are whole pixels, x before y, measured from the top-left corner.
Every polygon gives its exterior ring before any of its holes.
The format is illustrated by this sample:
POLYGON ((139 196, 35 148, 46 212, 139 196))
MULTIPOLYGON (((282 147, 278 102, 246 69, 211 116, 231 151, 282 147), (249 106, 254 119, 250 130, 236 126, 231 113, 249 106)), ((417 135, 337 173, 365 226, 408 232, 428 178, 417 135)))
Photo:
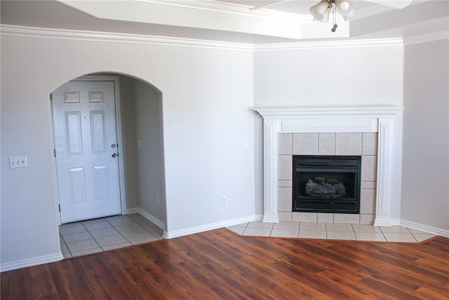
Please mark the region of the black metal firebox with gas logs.
POLYGON ((294 155, 293 211, 358 214, 361 156, 294 155))

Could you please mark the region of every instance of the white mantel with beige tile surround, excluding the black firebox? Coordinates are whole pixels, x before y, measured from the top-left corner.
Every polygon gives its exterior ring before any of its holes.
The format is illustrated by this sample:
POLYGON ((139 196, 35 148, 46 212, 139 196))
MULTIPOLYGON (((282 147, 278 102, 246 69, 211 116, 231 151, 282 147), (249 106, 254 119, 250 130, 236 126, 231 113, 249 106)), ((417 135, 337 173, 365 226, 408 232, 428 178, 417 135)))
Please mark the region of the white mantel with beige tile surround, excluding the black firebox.
POLYGON ((394 120, 403 107, 255 109, 264 122, 263 222, 391 226, 394 120), (292 155, 361 155, 361 213, 292 213, 292 155))

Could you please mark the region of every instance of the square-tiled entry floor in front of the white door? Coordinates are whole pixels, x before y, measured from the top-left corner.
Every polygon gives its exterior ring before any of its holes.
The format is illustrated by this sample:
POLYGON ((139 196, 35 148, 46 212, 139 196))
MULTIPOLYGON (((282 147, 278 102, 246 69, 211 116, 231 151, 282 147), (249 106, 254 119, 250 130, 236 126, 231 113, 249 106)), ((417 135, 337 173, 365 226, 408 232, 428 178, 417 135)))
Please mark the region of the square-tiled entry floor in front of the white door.
POLYGON ((65 258, 163 239, 163 230, 140 214, 62 224, 59 233, 65 258))

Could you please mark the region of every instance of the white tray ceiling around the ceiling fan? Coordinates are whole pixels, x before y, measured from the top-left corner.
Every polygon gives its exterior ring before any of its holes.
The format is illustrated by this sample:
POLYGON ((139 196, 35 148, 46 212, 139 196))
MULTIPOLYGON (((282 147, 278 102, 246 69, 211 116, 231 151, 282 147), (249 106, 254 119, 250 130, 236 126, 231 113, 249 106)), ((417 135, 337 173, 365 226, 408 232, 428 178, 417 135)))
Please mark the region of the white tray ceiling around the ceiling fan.
POLYGON ((65 30, 272 44, 410 37, 449 30, 449 1, 414 0, 401 10, 354 0, 350 22, 312 22, 319 0, 293 0, 250 11, 271 0, 1 0, 0 21, 65 30))

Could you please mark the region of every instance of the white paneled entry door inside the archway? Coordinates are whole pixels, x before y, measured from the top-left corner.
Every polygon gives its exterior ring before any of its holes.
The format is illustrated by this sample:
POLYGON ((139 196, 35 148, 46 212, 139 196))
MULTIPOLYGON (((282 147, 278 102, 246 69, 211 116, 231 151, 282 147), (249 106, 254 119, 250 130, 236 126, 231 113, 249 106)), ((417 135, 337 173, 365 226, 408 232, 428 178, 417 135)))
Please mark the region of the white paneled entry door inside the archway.
POLYGON ((121 214, 114 81, 52 93, 61 222, 121 214))

